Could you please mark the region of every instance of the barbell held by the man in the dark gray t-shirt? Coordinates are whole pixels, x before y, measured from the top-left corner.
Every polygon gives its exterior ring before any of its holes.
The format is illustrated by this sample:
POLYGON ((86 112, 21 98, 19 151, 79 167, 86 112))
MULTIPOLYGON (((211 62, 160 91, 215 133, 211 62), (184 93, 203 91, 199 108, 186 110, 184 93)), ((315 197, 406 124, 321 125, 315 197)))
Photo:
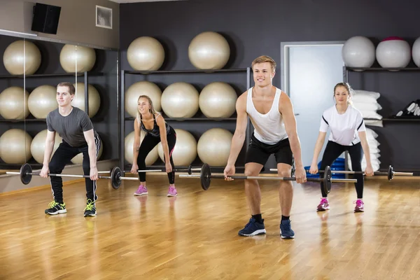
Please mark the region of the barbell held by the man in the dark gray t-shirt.
MULTIPOLYGON (((111 186, 115 189, 120 188, 121 181, 123 180, 132 180, 139 181, 136 177, 123 177, 121 175, 120 167, 113 167, 110 172, 110 176, 98 176, 98 179, 109 179, 111 181, 111 186)), ((6 174, 18 174, 20 175, 20 181, 27 185, 31 182, 32 176, 39 176, 39 173, 32 172, 31 165, 25 163, 20 167, 20 172, 6 172, 6 174)), ((50 177, 74 177, 74 178, 90 178, 89 175, 73 175, 73 174, 48 174, 50 177)))

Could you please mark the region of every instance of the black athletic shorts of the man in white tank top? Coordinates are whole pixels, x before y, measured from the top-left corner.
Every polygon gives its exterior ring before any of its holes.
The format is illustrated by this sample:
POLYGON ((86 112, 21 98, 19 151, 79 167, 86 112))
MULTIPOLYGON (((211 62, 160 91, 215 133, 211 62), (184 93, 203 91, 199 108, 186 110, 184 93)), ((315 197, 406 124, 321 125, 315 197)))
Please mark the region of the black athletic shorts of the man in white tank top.
POLYGON ((265 165, 272 154, 274 154, 277 163, 286 163, 286 165, 293 166, 293 153, 288 138, 269 145, 262 143, 252 134, 251 143, 248 146, 248 151, 246 151, 245 163, 256 162, 265 165))

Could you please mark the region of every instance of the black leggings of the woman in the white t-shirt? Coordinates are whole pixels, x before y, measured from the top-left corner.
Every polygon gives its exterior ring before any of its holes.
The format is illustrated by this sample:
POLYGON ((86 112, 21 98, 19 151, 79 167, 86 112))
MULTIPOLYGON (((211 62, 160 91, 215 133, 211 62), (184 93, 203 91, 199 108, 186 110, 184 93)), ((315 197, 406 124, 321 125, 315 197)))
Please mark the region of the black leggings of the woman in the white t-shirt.
MULTIPOLYGON (((339 155, 344 153, 344 151, 349 151, 351 169, 353 169, 353 171, 362 171, 363 149, 360 142, 353 146, 343 146, 333 141, 328 141, 327 146, 325 147, 320 170, 325 169, 327 166, 331 166, 332 163, 339 157, 339 155)), ((320 174, 319 176, 322 177, 323 174, 320 174)), ((363 174, 354 174, 353 176, 355 179, 357 179, 357 182, 354 183, 354 186, 356 187, 357 198, 363 198, 364 176, 363 174)), ((323 190, 323 182, 321 182, 321 193, 322 197, 327 197, 327 194, 323 190)))

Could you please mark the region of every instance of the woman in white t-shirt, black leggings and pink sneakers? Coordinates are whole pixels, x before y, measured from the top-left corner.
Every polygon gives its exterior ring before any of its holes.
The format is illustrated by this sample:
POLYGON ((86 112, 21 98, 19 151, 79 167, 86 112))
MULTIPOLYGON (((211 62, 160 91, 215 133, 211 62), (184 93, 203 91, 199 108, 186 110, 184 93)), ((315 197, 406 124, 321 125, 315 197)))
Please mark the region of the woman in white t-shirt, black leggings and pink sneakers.
MULTIPOLYGON (((321 170, 332 165, 332 163, 344 153, 348 151, 351 158, 351 167, 353 171, 362 171, 362 158, 365 153, 367 176, 373 176, 372 164, 370 162, 369 145, 366 138, 366 127, 362 114, 351 106, 351 87, 348 83, 337 83, 334 87, 335 105, 326 109, 321 118, 321 127, 319 128, 318 139, 314 149, 314 158, 312 160, 309 173, 318 173, 318 155, 325 141, 328 127, 330 128, 330 137, 321 160, 321 170)), ((321 174, 320 176, 323 176, 321 174)), ((357 200, 355 212, 364 211, 363 203, 363 174, 355 174, 357 200)), ((321 202, 317 211, 325 211, 330 209, 327 194, 323 190, 321 183, 321 202)))

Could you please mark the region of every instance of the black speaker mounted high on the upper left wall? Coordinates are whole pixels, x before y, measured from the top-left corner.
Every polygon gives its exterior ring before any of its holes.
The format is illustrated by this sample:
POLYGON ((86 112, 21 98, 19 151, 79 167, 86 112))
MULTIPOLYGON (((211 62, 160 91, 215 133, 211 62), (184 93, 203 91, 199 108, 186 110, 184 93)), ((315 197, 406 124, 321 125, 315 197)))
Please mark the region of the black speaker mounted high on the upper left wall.
POLYGON ((34 19, 32 20, 32 31, 57 34, 59 13, 61 7, 36 3, 34 6, 34 19))

